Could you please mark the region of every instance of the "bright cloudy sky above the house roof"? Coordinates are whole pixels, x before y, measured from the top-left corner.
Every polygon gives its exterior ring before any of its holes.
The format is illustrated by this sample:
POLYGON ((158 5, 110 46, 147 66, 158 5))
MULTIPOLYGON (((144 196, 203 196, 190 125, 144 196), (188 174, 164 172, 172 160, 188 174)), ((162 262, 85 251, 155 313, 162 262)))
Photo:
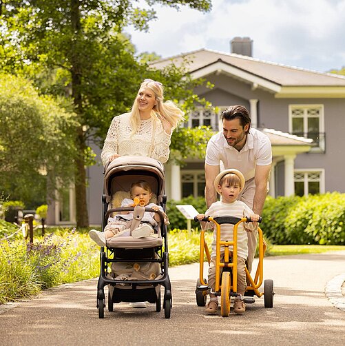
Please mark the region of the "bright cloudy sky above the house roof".
POLYGON ((345 0, 213 0, 207 13, 154 9, 149 32, 125 30, 138 53, 230 52, 231 39, 249 37, 255 59, 320 72, 345 67, 345 0))

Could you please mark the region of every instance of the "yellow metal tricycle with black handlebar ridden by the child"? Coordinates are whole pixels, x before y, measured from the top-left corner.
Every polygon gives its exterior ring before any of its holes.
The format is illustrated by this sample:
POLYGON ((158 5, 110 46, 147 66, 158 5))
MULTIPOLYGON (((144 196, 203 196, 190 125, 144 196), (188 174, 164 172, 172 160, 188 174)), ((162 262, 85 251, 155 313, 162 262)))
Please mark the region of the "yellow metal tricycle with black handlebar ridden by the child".
MULTIPOLYGON (((238 218, 235 216, 219 216, 212 218, 206 216, 202 220, 194 218, 195 221, 212 222, 216 225, 216 296, 220 296, 220 311, 222 316, 229 316, 231 297, 236 297, 237 294, 237 233, 238 225, 240 223, 251 222, 249 217, 238 218), (231 224, 233 225, 233 241, 221 241, 220 240, 220 225, 231 224), (229 246, 233 247, 232 252, 229 250, 229 246), (221 261, 220 254, 224 249, 224 262, 221 261), (220 274, 222 277, 220 280, 220 274)), ((259 223, 262 221, 260 218, 259 223)), ((273 307, 273 280, 264 281, 264 292, 260 292, 259 288, 263 281, 263 261, 264 253, 266 251, 266 242, 262 236, 262 230, 258 227, 258 245, 259 245, 259 261, 258 267, 255 272, 255 277, 252 278, 249 270, 246 267, 247 274, 247 289, 244 293, 244 303, 255 303, 254 295, 264 296, 264 307, 273 307)), ((205 242, 205 230, 200 233, 200 274, 196 283, 196 303, 198 306, 206 305, 207 293, 211 289, 207 285, 207 281, 204 276, 204 253, 206 254, 207 261, 210 264, 211 255, 209 248, 205 242), (204 252, 205 251, 205 252, 204 252)))

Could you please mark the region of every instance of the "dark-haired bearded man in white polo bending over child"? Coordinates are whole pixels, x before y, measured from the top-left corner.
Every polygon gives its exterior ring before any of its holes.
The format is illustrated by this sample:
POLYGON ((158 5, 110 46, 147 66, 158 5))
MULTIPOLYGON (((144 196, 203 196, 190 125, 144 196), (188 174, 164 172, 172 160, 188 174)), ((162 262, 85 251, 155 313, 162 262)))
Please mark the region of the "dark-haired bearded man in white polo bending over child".
MULTIPOLYGON (((246 183, 238 200, 246 203, 255 214, 262 214, 267 195, 267 183, 272 163, 269 138, 251 129, 249 112, 242 105, 232 105, 222 112, 222 132, 214 134, 207 143, 205 158, 205 199, 207 207, 217 201, 213 182, 220 170, 236 168, 246 183)), ((258 234, 248 232, 247 267, 251 272, 258 234)))

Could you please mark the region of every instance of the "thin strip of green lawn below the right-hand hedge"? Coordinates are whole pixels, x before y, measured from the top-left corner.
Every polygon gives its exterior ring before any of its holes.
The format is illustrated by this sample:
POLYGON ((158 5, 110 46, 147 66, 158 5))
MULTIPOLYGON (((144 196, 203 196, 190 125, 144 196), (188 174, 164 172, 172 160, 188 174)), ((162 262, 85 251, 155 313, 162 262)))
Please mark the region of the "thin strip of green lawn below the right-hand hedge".
POLYGON ((285 256, 295 254, 320 254, 328 251, 345 251, 342 245, 271 245, 269 256, 285 256))

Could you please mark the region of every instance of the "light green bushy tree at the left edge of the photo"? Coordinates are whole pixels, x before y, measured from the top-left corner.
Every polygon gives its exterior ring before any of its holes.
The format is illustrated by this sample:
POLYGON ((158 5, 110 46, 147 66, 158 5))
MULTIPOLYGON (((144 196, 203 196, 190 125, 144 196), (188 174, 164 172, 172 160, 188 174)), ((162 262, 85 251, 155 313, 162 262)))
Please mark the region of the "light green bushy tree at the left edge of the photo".
POLYGON ((0 194, 36 207, 46 199, 47 179, 52 190, 71 183, 74 118, 25 79, 0 74, 0 194))

